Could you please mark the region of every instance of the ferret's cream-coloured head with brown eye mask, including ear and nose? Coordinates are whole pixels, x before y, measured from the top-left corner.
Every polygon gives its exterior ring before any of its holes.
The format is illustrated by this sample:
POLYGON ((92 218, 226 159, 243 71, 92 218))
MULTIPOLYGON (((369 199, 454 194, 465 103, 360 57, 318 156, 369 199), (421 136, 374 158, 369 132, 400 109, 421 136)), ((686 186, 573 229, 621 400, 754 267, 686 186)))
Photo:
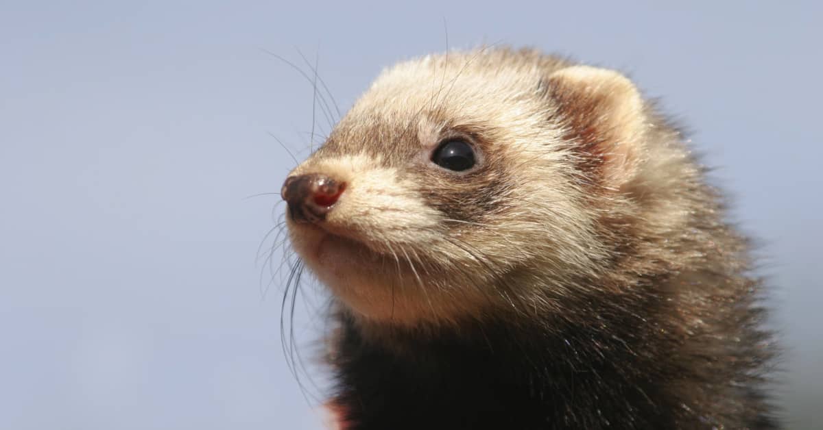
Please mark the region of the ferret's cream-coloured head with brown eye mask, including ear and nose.
POLYGON ((674 181, 646 110, 617 72, 533 51, 402 62, 286 178, 291 242, 360 321, 561 312, 621 288, 634 214, 674 181))

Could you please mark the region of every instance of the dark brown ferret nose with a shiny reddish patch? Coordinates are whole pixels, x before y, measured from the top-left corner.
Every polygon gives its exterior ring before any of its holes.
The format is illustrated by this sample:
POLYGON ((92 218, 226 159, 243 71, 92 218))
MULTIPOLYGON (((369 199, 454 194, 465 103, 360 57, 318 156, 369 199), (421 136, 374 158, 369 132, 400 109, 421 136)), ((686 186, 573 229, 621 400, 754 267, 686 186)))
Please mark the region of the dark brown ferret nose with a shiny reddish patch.
POLYGON ((326 219, 346 183, 320 173, 290 176, 280 192, 289 205, 291 219, 298 223, 316 223, 326 219))

